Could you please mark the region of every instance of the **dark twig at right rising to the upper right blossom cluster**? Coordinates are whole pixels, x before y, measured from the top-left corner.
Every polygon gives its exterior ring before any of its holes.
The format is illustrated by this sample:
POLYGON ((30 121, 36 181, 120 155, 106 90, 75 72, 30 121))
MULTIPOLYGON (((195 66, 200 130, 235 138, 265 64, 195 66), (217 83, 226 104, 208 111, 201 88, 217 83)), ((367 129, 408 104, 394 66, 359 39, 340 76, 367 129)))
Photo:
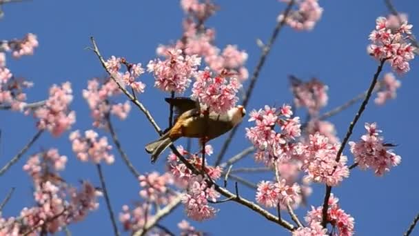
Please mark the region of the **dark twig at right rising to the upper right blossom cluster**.
MULTIPOLYGON (((374 77, 371 81, 371 84, 369 85, 369 89, 367 91, 367 96, 365 96, 364 101, 362 101, 361 106, 358 109, 358 112, 356 112, 356 115, 354 119, 351 121, 351 124, 349 124, 348 131, 345 135, 345 138, 342 141, 342 144, 340 144, 340 148, 338 150, 338 153, 336 154, 336 161, 338 162, 340 160, 340 155, 343 153, 343 149, 345 148, 347 142, 349 141, 349 137, 352 135, 352 131, 355 128, 356 122, 360 119, 362 112, 365 111, 365 108, 367 107, 369 98, 371 97, 371 94, 376 86, 376 83, 378 81, 378 76, 380 75, 380 72, 382 70, 382 66, 384 66, 385 59, 382 59, 380 61, 380 65, 378 66, 376 73, 374 74, 374 77)), ((326 228, 327 225, 327 210, 329 208, 329 198, 331 194, 331 186, 326 186, 326 193, 325 193, 325 199, 323 200, 323 209, 322 209, 322 226, 323 228, 326 228)))

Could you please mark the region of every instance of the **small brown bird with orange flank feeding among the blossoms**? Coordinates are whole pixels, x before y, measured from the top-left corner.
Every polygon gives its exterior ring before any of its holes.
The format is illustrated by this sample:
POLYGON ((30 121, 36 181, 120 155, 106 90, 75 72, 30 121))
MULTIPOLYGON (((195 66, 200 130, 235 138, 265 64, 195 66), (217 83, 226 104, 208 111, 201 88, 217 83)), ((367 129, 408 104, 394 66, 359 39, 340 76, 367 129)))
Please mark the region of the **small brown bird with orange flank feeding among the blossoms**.
POLYGON ((239 124, 246 115, 243 106, 236 106, 225 114, 201 112, 198 101, 186 97, 166 98, 165 101, 175 108, 174 125, 164 135, 145 146, 152 155, 152 162, 180 137, 201 138, 205 141, 221 136, 239 124))

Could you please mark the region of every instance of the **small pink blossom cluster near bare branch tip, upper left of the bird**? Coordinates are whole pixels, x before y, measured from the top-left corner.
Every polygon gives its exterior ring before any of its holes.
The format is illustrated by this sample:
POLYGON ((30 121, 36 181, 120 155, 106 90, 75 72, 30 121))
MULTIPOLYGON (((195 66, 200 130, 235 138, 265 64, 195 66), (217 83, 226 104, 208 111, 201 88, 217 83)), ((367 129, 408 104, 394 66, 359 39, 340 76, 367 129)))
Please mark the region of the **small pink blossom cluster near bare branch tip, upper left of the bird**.
POLYGON ((136 81, 136 79, 144 73, 141 63, 131 64, 127 63, 123 58, 112 56, 105 62, 105 66, 108 72, 110 72, 110 75, 116 79, 121 86, 127 85, 135 92, 144 92, 145 84, 141 81, 136 81), (127 67, 125 72, 119 71, 121 70, 121 65, 123 63, 127 67))

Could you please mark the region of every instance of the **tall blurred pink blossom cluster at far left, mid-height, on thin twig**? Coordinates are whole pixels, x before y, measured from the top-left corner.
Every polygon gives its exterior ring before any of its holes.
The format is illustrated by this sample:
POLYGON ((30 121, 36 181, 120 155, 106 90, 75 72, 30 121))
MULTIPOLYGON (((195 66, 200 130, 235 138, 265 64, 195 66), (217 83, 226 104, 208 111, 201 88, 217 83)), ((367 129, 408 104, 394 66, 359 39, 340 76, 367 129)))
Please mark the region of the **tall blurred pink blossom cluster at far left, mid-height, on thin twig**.
POLYGON ((48 130, 54 137, 60 136, 76 122, 76 112, 68 107, 72 102, 72 88, 70 82, 50 88, 50 97, 45 105, 34 110, 34 117, 39 119, 37 128, 48 130))

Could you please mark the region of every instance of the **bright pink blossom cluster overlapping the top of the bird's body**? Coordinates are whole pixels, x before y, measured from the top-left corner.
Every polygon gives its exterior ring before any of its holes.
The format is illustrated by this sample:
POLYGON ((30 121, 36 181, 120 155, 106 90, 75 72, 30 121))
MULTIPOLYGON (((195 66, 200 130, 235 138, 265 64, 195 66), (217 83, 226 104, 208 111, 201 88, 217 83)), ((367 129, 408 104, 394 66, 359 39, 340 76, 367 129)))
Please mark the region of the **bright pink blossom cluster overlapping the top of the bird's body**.
POLYGON ((242 86, 231 76, 227 70, 223 70, 214 78, 210 68, 198 71, 192 88, 192 98, 198 100, 203 107, 210 108, 210 112, 227 112, 236 105, 236 94, 242 86))

